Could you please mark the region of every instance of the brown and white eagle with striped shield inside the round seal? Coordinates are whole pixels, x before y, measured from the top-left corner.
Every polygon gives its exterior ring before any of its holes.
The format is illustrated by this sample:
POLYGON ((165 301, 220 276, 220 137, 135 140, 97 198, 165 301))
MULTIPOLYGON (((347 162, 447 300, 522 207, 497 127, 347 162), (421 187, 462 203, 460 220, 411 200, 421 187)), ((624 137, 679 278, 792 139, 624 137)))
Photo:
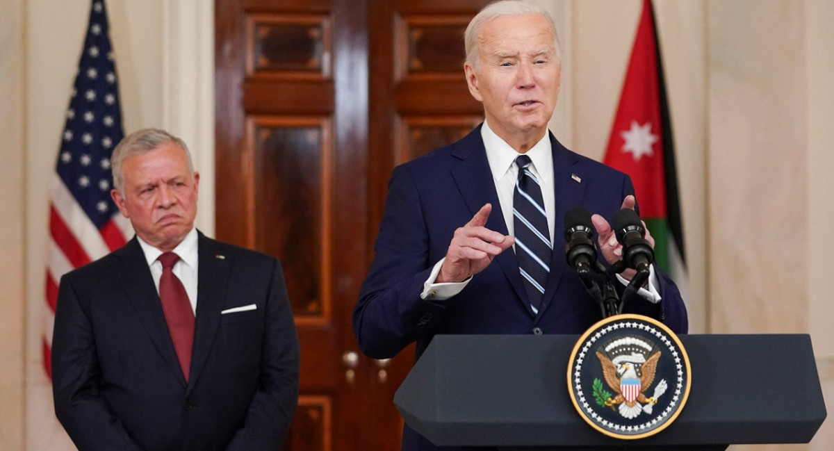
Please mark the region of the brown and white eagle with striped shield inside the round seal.
POLYGON ((604 343, 596 350, 596 358, 600 360, 605 383, 615 392, 598 391, 598 401, 611 409, 617 406, 620 415, 629 419, 642 412, 651 414, 652 407, 668 386, 666 380, 661 379, 652 396, 646 396, 646 391, 655 382, 661 350, 640 336, 625 335, 604 343))

